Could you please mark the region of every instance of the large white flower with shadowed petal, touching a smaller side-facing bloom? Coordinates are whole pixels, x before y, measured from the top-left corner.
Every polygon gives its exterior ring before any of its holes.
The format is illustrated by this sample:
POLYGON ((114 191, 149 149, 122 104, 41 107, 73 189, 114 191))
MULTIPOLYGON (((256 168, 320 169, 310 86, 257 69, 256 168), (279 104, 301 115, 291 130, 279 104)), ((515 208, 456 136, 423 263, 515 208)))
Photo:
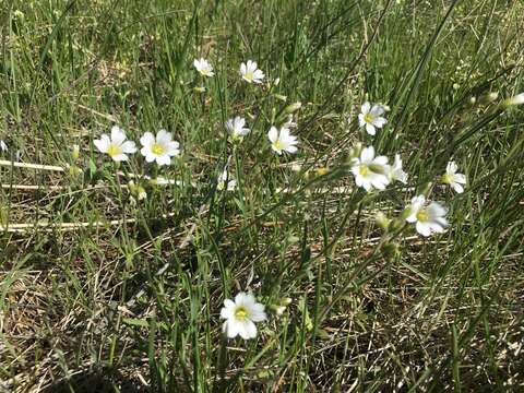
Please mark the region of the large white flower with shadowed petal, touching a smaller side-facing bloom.
POLYGON ((388 157, 376 157, 373 146, 362 148, 360 158, 353 159, 352 172, 357 186, 366 191, 372 188, 383 190, 390 183, 388 157))

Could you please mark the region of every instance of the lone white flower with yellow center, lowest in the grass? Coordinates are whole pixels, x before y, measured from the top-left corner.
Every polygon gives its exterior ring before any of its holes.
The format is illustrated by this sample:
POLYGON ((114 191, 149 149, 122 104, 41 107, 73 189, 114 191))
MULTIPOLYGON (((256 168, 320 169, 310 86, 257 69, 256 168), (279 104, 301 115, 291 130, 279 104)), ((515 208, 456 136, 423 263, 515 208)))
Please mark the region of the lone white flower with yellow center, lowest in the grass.
POLYGON ((224 306, 221 317, 226 321, 222 330, 229 338, 237 335, 243 340, 254 338, 257 336, 254 322, 262 322, 267 318, 264 305, 257 302, 252 294, 239 293, 235 296, 235 301, 224 300, 224 306))

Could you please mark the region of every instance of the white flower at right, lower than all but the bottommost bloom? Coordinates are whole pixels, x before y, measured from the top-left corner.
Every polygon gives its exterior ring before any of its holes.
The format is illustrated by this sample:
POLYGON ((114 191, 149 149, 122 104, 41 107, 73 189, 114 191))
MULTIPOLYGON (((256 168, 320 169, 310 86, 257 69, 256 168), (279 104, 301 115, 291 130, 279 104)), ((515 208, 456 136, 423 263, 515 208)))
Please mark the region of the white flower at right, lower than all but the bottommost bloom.
POLYGON ((422 236, 429 236, 432 233, 442 234, 448 227, 445 219, 446 209, 437 202, 426 205, 424 195, 414 196, 408 206, 409 215, 406 221, 408 223, 417 223, 416 229, 422 236))

